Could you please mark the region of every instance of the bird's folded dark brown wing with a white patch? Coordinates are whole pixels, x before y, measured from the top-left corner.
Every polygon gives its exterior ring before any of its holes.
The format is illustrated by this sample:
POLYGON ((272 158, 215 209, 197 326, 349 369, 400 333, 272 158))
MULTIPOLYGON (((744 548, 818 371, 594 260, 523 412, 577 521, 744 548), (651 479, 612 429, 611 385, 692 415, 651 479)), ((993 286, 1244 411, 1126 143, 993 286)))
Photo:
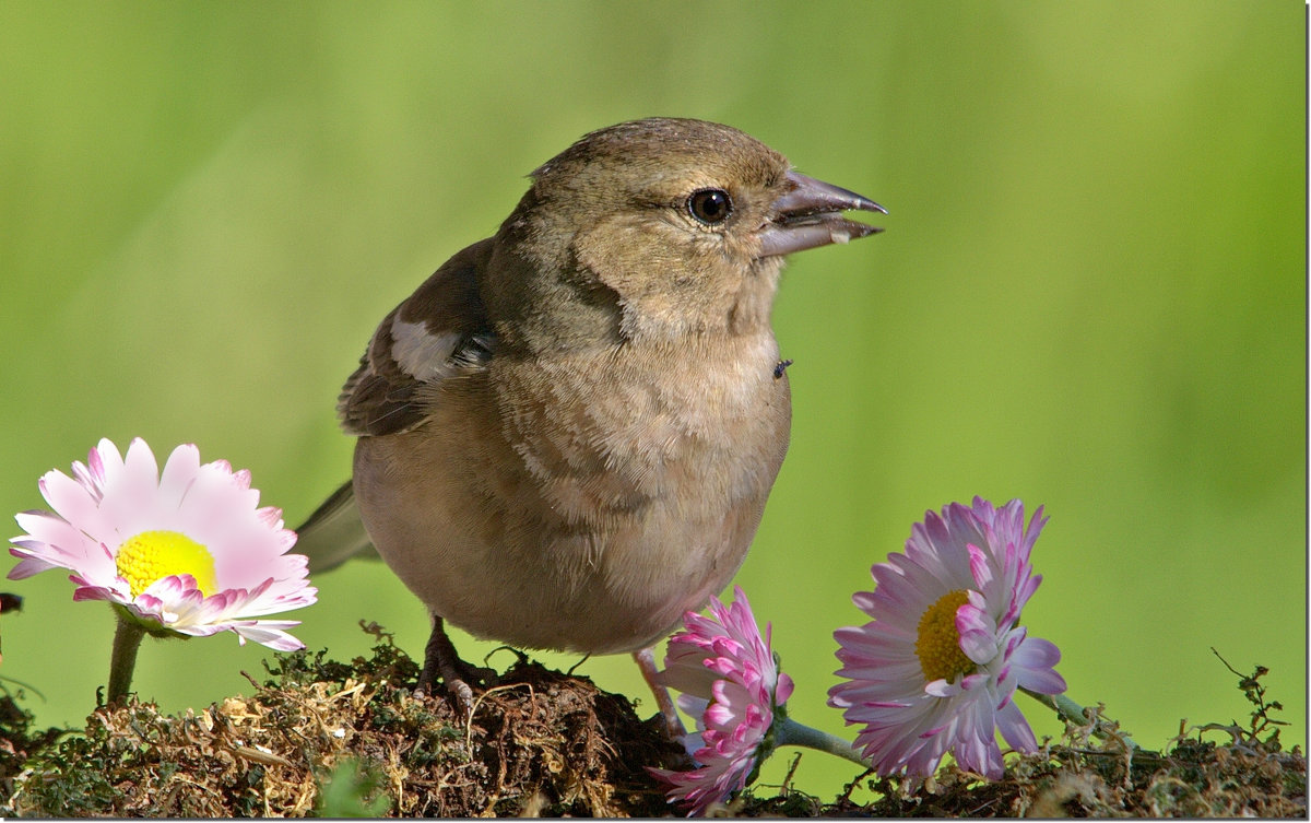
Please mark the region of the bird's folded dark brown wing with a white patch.
POLYGON ((347 434, 409 431, 427 419, 435 385, 486 366, 496 335, 479 296, 479 271, 492 242, 476 242, 446 261, 378 325, 337 400, 347 434))

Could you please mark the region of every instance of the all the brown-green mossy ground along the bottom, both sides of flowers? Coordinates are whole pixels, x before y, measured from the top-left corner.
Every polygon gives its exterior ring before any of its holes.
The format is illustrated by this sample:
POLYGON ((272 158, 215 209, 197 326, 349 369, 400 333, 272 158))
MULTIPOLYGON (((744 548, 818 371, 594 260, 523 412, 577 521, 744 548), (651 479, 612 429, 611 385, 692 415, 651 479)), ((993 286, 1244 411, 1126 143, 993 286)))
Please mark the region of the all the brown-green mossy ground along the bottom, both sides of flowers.
MULTIPOLYGON (((678 768, 657 718, 587 679, 520 658, 472 719, 416 700, 418 667, 376 626, 350 663, 278 655, 249 697, 163 716, 130 699, 77 733, 31 730, 0 699, 0 814, 25 816, 658 816, 674 811, 646 767, 678 768)), ((952 765, 919 785, 861 775, 832 801, 756 785, 741 816, 1306 816, 1306 759, 1283 751, 1257 670, 1252 722, 1193 727, 1164 754, 1099 717, 990 782, 952 765), (1096 734, 1095 734, 1096 733, 1096 734), (1096 737, 1100 734, 1101 737, 1096 737), (856 790, 876 799, 856 802, 856 790)), ((1245 685, 1243 685, 1245 683, 1245 685)), ((808 755, 819 756, 819 755, 808 755)))

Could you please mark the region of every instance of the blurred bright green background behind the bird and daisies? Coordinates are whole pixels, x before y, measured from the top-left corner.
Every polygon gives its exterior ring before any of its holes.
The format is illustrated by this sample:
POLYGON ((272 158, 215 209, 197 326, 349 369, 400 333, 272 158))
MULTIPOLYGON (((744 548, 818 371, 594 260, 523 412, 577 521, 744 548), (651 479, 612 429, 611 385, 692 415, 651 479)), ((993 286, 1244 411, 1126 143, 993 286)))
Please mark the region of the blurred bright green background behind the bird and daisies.
MULTIPOLYGON (((1047 506, 1025 621, 1071 697, 1152 747, 1245 718, 1214 646, 1272 668, 1304 744, 1306 13, 0 3, 0 511, 139 435, 249 468, 294 526, 347 476, 333 404, 379 318, 583 132, 700 117, 891 212, 798 256, 777 301, 792 451, 737 582, 792 716, 843 733, 825 692, 851 592, 924 510, 982 494, 1047 506)), ((363 653, 367 619, 422 654, 423 609, 382 565, 315 583, 311 649, 363 653)), ((81 725, 109 609, 59 573, 5 588, 28 600, 0 674, 81 725)), ((203 706, 264 657, 151 641, 135 687, 203 706)), ((579 672, 652 710, 627 657, 579 672)), ((808 754, 794 781, 853 775, 808 754)))

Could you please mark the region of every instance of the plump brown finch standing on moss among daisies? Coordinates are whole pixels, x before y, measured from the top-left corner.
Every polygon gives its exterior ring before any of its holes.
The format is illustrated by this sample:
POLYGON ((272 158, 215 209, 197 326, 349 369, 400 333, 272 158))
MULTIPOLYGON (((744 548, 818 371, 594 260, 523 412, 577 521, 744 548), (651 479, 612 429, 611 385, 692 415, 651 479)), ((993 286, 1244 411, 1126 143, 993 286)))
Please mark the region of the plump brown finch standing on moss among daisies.
POLYGON ((298 529, 311 571, 376 550, 431 617, 418 691, 469 712, 446 622, 631 653, 656 688, 652 647, 737 573, 788 450, 783 258, 886 214, 687 118, 593 131, 530 181, 379 324, 337 404, 351 480, 298 529))

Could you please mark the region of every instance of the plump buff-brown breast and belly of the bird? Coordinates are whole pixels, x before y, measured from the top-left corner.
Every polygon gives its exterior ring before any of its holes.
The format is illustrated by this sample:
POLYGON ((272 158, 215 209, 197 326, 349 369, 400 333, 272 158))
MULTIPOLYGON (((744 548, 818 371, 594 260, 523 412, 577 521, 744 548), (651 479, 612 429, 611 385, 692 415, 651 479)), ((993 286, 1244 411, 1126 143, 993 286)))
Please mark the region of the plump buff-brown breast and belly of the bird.
POLYGON ((526 647, 644 647, 722 590, 788 446, 772 337, 517 362, 362 438, 361 514, 434 613, 526 647))

